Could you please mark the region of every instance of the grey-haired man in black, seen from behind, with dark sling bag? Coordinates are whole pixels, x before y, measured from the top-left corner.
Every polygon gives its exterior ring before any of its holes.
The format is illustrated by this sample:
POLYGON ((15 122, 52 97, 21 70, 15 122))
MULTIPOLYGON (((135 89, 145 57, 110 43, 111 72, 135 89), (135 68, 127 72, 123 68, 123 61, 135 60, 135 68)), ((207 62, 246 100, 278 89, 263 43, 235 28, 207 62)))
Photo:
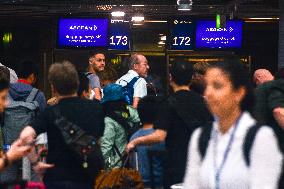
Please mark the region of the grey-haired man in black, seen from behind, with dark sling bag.
POLYGON ((78 73, 70 62, 52 64, 48 79, 58 104, 48 106, 25 127, 20 139, 29 143, 47 132, 47 163, 39 162, 35 154, 29 156, 37 172, 50 168, 43 178, 47 189, 92 189, 103 168, 98 147, 104 132, 102 106, 78 97, 78 73))

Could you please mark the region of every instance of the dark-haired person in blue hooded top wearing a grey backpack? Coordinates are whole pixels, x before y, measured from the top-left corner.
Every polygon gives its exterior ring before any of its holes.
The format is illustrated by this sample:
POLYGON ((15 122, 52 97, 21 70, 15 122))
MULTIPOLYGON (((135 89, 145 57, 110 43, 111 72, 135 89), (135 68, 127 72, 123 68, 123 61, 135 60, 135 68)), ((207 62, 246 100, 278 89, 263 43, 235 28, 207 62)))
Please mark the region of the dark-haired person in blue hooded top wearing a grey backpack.
MULTIPOLYGON (((9 104, 4 112, 3 138, 4 146, 9 149, 10 145, 18 138, 21 130, 29 125, 39 111, 46 106, 45 96, 32 85, 36 82, 37 67, 31 61, 23 61, 19 65, 18 80, 9 88, 9 104)), ((46 136, 38 138, 38 144, 46 143, 46 136)), ((31 168, 27 159, 23 163, 18 162, 1 173, 0 180, 24 178, 31 179, 31 168), (22 173, 20 169, 22 168, 22 173)), ((36 178, 33 178, 37 180, 36 178)))

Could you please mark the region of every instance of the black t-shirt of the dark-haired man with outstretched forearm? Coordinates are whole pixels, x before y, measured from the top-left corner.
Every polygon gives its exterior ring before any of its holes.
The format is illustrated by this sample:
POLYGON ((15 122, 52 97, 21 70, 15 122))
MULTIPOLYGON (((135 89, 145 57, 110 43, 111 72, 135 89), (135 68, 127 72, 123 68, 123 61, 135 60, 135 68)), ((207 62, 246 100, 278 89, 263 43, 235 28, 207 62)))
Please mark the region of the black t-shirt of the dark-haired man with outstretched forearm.
POLYGON ((167 131, 166 149, 166 179, 171 184, 182 182, 186 167, 187 149, 190 136, 197 127, 210 124, 213 120, 202 96, 180 90, 169 97, 175 99, 170 105, 169 100, 161 104, 159 118, 154 124, 155 129, 167 131), (179 113, 175 110, 178 108, 179 113), (181 118, 181 115, 183 118, 181 118), (192 124, 191 123, 192 120, 192 124))

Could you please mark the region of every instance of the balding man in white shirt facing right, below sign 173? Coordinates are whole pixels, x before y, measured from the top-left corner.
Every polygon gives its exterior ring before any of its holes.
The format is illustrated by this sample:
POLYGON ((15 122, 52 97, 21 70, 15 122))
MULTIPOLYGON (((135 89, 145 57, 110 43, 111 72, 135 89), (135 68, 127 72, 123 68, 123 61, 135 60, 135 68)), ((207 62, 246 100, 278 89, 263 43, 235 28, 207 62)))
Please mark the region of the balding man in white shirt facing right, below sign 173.
POLYGON ((121 86, 128 85, 132 79, 139 77, 134 83, 132 106, 137 108, 140 98, 147 95, 147 82, 144 78, 147 77, 149 70, 148 61, 142 54, 133 54, 129 58, 129 71, 116 81, 116 84, 121 86))

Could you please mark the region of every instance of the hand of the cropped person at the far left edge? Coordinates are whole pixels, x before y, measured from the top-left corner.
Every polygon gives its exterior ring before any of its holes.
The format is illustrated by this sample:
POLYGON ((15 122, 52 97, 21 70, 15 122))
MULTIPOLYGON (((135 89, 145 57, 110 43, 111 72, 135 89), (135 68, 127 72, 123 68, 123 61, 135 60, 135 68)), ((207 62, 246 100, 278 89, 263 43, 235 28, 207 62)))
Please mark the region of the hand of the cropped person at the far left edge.
POLYGON ((11 145, 11 148, 6 153, 7 158, 10 162, 21 159, 31 151, 31 148, 32 145, 25 145, 22 140, 18 139, 11 145))

